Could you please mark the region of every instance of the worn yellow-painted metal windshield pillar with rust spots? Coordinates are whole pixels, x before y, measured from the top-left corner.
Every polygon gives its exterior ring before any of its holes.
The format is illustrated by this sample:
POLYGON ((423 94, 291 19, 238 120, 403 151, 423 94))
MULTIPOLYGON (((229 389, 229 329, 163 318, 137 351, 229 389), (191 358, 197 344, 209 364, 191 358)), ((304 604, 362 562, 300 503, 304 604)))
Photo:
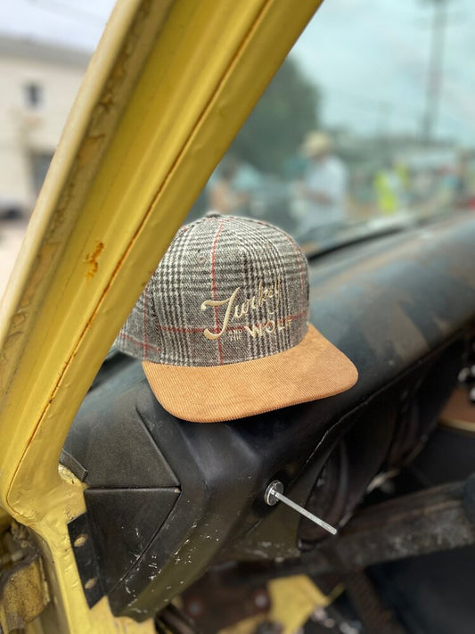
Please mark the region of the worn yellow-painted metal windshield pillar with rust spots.
POLYGON ((88 610, 61 477, 71 420, 186 211, 319 0, 121 0, 0 313, 0 504, 37 532, 61 632, 152 632, 88 610))

